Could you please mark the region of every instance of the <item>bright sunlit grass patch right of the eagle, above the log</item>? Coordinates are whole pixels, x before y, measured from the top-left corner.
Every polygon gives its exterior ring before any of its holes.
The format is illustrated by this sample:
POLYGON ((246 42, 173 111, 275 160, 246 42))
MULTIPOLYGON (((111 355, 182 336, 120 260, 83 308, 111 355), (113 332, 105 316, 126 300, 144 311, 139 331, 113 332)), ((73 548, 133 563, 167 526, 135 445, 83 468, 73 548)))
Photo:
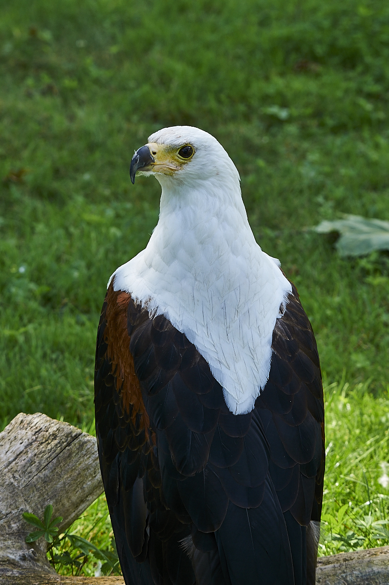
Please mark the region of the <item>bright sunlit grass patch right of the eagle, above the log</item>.
POLYGON ((325 407, 327 458, 319 555, 388 545, 389 478, 385 482, 384 474, 389 398, 374 397, 368 383, 350 388, 343 379, 325 387, 325 407))

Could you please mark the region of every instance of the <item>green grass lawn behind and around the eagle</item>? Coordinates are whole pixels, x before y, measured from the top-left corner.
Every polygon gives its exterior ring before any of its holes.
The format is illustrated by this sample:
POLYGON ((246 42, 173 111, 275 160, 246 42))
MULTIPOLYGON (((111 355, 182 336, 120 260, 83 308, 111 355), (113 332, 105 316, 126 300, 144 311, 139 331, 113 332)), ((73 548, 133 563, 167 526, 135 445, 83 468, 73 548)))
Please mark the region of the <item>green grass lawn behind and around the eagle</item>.
POLYGON ((366 536, 358 518, 384 521, 389 494, 389 261, 339 259, 305 228, 389 219, 389 6, 19 0, 0 7, 0 75, 0 428, 20 411, 90 427, 105 285, 158 219, 159 185, 132 187, 129 161, 154 130, 196 125, 235 161, 258 242, 298 286, 328 388, 325 511, 339 521, 351 501, 337 531, 366 536))

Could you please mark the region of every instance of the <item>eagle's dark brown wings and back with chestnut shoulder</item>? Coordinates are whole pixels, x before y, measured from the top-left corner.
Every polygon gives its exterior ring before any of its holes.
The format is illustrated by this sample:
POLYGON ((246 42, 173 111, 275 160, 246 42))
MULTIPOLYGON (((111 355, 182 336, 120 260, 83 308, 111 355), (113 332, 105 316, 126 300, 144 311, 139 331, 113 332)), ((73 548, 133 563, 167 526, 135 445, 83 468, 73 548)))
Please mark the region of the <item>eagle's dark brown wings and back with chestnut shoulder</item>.
POLYGON ((296 291, 273 350, 255 408, 233 415, 185 335, 108 288, 96 431, 126 583, 306 582, 305 526, 320 518, 323 398, 296 291))

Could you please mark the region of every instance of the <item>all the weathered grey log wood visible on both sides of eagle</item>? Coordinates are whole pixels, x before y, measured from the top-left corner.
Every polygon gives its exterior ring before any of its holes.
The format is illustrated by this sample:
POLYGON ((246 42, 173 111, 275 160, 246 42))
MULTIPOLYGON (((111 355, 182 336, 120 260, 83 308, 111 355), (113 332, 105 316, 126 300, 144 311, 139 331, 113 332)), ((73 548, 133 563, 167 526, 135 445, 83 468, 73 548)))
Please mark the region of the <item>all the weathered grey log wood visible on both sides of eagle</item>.
MULTIPOLYGON (((44 414, 18 414, 0 433, 0 584, 124 585, 122 577, 62 577, 47 562, 43 539, 22 518, 43 518, 47 504, 60 531, 103 493, 94 437, 44 414)), ((318 560, 316 585, 389 585, 389 546, 318 560)))

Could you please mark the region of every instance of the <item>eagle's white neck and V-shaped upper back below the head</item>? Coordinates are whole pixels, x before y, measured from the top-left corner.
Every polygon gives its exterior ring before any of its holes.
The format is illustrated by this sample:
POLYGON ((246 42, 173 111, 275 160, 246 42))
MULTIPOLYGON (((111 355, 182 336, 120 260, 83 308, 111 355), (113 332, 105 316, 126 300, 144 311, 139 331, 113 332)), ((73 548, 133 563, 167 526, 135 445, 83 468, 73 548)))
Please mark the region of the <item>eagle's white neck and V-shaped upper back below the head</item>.
POLYGON ((146 249, 112 276, 115 290, 185 333, 228 408, 241 414, 267 382, 272 332, 291 285, 255 242, 233 170, 185 185, 158 177, 158 225, 146 249))

